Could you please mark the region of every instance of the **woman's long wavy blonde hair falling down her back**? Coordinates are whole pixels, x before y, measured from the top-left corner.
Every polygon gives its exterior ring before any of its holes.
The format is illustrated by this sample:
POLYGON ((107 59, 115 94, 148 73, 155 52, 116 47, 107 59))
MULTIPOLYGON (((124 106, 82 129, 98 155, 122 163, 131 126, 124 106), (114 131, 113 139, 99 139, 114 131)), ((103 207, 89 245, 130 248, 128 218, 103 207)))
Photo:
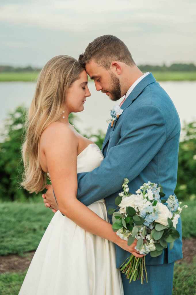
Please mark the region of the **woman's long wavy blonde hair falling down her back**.
POLYGON ((46 184, 46 173, 39 164, 40 137, 62 116, 67 90, 83 70, 75 58, 58 55, 49 60, 39 74, 22 146, 24 173, 21 185, 30 193, 42 191, 46 184))

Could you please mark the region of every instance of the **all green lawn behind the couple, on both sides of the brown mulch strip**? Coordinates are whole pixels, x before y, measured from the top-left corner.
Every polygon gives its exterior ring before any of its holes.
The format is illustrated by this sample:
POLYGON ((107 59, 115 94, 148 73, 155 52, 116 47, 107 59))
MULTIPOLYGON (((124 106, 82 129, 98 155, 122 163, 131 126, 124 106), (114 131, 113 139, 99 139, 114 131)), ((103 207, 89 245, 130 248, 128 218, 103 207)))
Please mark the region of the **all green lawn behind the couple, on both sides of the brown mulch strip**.
MULTIPOLYGON (((196 237, 196 201, 186 201, 183 209, 182 236, 196 237)), ((42 198, 38 203, 1 203, 0 204, 0 255, 35 250, 49 224, 53 213, 46 209, 42 198)), ((0 275, 1 295, 17 295, 26 272, 4 273, 0 275)), ((196 262, 174 266, 173 295, 196 295, 196 262)))

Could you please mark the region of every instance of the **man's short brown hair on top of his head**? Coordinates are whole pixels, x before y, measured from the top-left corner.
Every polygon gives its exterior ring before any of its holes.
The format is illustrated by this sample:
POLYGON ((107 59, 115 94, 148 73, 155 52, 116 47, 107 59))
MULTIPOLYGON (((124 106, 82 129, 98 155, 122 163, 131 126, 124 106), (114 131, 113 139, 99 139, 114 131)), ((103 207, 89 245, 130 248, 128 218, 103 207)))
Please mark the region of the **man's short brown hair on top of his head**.
POLYGON ((85 52, 80 54, 79 63, 85 68, 90 60, 95 61, 98 65, 110 69, 113 60, 118 60, 126 65, 133 66, 135 62, 126 45, 113 35, 104 35, 96 38, 89 43, 85 52))

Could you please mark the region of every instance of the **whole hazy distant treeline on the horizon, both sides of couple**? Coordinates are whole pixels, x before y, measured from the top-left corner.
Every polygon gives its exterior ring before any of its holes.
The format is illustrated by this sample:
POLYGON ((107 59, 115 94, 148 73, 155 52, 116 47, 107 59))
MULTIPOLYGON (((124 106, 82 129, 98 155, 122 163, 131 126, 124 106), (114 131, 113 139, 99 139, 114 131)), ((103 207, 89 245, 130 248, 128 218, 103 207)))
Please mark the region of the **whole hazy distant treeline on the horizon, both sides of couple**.
MULTIPOLYGON (((139 65, 139 69, 142 72, 195 72, 196 66, 194 63, 172 63, 172 65, 139 65)), ((32 68, 31 66, 22 67, 12 67, 9 65, 0 65, 0 73, 20 73, 20 72, 38 72, 41 68, 32 68)))

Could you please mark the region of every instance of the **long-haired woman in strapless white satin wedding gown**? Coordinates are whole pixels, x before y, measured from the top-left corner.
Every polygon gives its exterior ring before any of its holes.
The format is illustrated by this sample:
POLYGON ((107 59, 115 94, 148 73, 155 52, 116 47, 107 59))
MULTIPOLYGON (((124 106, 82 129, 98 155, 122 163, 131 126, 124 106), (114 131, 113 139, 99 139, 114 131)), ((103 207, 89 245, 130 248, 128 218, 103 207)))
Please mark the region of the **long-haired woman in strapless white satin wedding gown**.
MULTIPOLYGON (((108 222, 104 199, 86 207, 77 199, 77 173, 101 165, 93 142, 69 124, 90 96, 88 77, 77 60, 59 55, 42 69, 29 109, 23 145, 22 185, 42 191, 49 173, 59 211, 34 254, 19 295, 123 295, 116 268, 116 243, 140 257, 108 222)), ((103 191, 104 195, 104 191, 103 191)))

